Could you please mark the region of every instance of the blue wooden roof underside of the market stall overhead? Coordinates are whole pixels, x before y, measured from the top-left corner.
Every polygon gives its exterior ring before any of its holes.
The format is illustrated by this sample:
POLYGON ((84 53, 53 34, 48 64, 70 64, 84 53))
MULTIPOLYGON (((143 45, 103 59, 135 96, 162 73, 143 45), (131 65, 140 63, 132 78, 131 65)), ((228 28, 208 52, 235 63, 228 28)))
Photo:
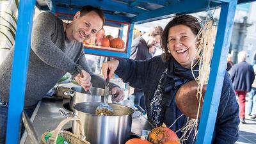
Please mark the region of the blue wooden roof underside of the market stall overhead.
POLYGON ((36 0, 36 6, 57 13, 61 19, 72 19, 82 6, 92 5, 104 10, 106 19, 138 24, 172 17, 175 13, 202 12, 228 1, 232 0, 36 0))

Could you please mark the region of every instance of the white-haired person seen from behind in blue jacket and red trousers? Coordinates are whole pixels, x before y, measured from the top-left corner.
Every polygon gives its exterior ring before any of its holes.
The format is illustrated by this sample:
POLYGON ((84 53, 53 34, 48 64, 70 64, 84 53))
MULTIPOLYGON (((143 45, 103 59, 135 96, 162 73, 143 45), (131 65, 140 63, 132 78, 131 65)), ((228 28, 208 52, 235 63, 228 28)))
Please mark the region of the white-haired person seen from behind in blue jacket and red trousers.
POLYGON ((246 93, 252 89, 252 83, 254 81, 254 71, 252 65, 245 60, 247 53, 241 51, 238 53, 238 63, 234 65, 230 70, 230 76, 234 85, 234 90, 239 97, 239 117, 240 122, 246 124, 244 121, 244 107, 246 93))

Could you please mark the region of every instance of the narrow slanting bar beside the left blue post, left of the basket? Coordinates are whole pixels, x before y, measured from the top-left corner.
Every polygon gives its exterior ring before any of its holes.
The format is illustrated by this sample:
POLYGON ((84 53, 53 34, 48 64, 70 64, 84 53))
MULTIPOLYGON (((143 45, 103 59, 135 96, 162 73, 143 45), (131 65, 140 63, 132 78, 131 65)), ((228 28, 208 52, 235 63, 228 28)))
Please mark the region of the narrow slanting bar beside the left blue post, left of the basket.
POLYGON ((22 122, 26 129, 26 132, 28 132, 28 136, 31 139, 31 141, 33 141, 33 143, 35 144, 40 144, 40 141, 38 140, 38 136, 33 127, 33 124, 30 122, 28 115, 26 115, 24 111, 22 111, 22 122))

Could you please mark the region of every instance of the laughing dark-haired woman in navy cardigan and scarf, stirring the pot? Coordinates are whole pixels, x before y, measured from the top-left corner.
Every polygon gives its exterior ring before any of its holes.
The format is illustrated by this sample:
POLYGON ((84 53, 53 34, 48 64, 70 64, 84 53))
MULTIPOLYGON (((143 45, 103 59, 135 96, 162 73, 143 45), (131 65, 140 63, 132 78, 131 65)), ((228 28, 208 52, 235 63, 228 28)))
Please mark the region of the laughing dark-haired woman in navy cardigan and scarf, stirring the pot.
MULTIPOLYGON (((200 24, 195 17, 177 16, 164 28, 161 46, 165 53, 162 56, 145 61, 108 61, 102 65, 102 72, 106 77, 109 68, 109 76, 115 72, 125 83, 142 89, 148 120, 156 126, 164 122, 170 127, 182 115, 175 104, 175 93, 182 84, 194 80, 190 66, 196 55, 195 38, 199 30, 200 24)), ((187 118, 181 116, 170 129, 176 132, 184 127, 187 118)), ((212 143, 235 143, 238 139, 238 125, 239 107, 230 77, 226 73, 212 143)), ((182 132, 177 132, 177 135, 180 138, 182 132)), ((193 142, 193 134, 184 141, 193 142)))

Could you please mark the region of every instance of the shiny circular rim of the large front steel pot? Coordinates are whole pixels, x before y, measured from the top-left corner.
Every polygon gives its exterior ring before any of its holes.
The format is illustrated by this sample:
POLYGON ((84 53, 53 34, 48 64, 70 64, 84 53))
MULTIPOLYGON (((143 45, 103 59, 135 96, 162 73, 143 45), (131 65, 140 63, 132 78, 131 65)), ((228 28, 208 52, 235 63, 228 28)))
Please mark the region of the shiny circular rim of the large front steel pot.
MULTIPOLYGON (((77 109, 75 108, 75 106, 76 106, 77 104, 82 104, 82 103, 102 103, 102 104, 103 104, 104 102, 79 102, 79 103, 74 104, 74 106, 73 106, 73 108, 74 108, 74 109, 73 109, 74 114, 76 113, 75 111, 77 111, 77 112, 79 112, 79 113, 83 113, 84 115, 92 115, 92 116, 97 116, 97 117, 99 117, 99 116, 96 115, 96 114, 86 113, 86 112, 83 112, 83 111, 79 111, 79 110, 77 110, 77 109)), ((113 103, 111 103, 111 104, 113 104, 113 103)), ((127 114, 127 115, 101 115, 101 116, 102 116, 102 117, 111 117, 111 118, 113 118, 113 117, 124 117, 124 116, 129 116, 129 115, 132 116, 132 114, 135 112, 134 109, 132 109, 132 108, 130 108, 130 107, 128 107, 128 106, 124 106, 124 105, 122 105, 122 104, 115 104, 115 105, 119 105, 119 106, 128 108, 128 109, 131 110, 131 113, 130 113, 130 114, 127 114)))

